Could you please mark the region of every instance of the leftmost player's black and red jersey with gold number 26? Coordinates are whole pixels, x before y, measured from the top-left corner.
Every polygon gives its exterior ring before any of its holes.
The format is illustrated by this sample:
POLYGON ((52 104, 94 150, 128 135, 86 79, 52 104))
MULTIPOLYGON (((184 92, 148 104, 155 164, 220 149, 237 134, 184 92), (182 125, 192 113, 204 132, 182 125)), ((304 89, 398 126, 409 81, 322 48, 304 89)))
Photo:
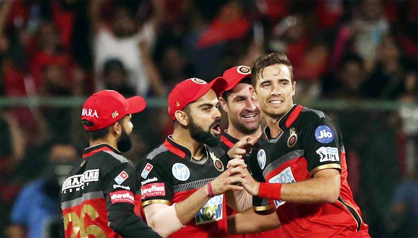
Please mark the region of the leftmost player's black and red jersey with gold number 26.
POLYGON ((108 144, 85 149, 61 190, 66 238, 160 237, 133 212, 131 160, 108 144))

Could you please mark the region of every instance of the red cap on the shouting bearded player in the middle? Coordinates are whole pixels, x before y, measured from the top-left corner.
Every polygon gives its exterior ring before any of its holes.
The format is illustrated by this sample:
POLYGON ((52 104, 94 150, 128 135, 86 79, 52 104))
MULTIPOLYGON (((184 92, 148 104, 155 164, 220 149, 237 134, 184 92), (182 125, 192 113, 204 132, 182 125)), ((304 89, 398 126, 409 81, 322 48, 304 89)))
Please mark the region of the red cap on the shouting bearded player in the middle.
POLYGON ((210 83, 198 78, 186 79, 178 83, 168 95, 168 114, 171 119, 175 120, 176 111, 183 110, 187 104, 196 101, 210 89, 213 89, 216 94, 221 94, 227 86, 228 83, 222 77, 218 77, 210 83))

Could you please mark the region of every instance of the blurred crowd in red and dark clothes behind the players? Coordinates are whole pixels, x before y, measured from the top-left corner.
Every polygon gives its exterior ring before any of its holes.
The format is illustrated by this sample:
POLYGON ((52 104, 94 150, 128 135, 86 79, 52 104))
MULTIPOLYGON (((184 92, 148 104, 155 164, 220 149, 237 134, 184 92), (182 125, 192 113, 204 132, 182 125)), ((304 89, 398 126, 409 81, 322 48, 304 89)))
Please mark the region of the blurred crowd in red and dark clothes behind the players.
MULTIPOLYGON (((0 95, 113 89, 166 98, 181 80, 210 81, 284 52, 297 103, 417 103, 417 13, 418 1, 408 0, 3 0, 0 95)), ((349 183, 372 237, 418 236, 417 112, 327 113, 341 128, 349 183)), ((57 181, 88 145, 80 115, 73 107, 1 109, 1 237, 20 227, 39 233, 30 229, 39 217, 58 226, 57 181)), ((126 157, 135 162, 173 130, 166 108, 147 109, 133 123, 126 157)))

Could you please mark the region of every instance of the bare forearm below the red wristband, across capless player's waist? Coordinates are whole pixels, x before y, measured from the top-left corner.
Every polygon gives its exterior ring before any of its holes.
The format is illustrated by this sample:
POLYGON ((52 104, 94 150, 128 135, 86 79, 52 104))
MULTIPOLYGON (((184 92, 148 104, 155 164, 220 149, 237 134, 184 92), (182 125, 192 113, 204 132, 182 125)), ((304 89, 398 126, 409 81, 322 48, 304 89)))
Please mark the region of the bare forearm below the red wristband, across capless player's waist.
POLYGON ((228 234, 248 234, 272 230, 281 226, 274 210, 256 213, 248 209, 242 213, 228 216, 228 234), (260 222, 262 221, 262 222, 260 222))

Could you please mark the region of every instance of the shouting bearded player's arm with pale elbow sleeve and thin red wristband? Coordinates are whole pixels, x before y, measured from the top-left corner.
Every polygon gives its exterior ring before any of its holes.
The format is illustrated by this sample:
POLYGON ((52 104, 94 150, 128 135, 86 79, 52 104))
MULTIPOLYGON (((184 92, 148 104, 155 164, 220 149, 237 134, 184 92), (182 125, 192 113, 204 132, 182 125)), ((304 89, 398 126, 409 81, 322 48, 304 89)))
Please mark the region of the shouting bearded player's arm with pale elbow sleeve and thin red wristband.
MULTIPOLYGON (((231 177, 229 176, 230 170, 224 171, 211 181, 213 195, 223 194, 227 190, 242 189, 240 186, 233 185, 233 183, 243 181, 242 175, 231 177)), ((212 197, 209 194, 208 185, 205 185, 190 197, 171 206, 158 203, 157 200, 155 200, 156 202, 148 204, 143 202, 142 204, 148 224, 162 237, 167 237, 189 223, 210 198, 212 197)))

